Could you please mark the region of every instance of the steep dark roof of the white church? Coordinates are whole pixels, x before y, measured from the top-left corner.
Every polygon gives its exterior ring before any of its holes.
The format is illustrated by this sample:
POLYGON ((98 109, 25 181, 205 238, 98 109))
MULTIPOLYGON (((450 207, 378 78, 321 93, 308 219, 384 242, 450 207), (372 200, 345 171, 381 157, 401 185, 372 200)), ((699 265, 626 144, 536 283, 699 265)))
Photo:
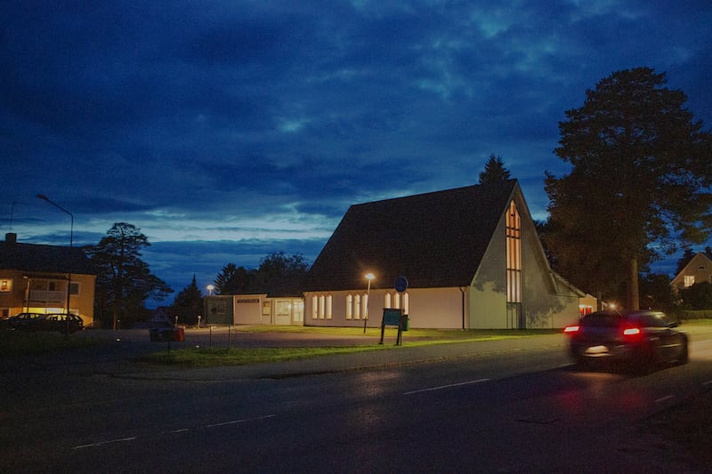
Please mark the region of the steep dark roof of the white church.
POLYGON ((361 288, 368 272, 375 288, 399 276, 414 288, 470 285, 515 189, 509 180, 352 205, 304 288, 361 288))

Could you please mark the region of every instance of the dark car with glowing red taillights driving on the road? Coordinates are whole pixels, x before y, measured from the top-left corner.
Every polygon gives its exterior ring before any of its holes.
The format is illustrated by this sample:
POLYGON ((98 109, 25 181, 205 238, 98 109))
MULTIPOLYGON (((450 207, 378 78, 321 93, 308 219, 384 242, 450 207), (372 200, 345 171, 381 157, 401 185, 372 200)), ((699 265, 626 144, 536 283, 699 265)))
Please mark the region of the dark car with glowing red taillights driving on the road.
POLYGON ((659 311, 598 311, 564 328, 578 366, 613 363, 634 370, 661 363, 685 364, 687 334, 659 311))

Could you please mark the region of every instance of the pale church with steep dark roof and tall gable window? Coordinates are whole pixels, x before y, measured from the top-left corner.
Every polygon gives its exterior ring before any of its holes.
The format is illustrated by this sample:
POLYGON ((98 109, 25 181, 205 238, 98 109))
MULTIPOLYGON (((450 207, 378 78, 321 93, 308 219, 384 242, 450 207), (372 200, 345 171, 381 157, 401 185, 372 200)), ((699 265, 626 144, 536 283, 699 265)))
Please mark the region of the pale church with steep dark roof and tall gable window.
POLYGON ((550 269, 516 180, 352 205, 304 289, 304 325, 376 327, 394 308, 410 327, 552 328, 595 308, 550 269))

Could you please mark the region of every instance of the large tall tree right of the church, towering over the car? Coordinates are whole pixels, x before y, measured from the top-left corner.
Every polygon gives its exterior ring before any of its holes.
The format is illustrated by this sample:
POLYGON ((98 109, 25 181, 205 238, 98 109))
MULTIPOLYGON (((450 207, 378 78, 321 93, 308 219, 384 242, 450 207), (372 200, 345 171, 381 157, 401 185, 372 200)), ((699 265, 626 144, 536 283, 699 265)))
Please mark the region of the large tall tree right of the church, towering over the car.
POLYGON ((546 246, 574 285, 639 306, 639 269, 712 230, 712 135, 651 68, 622 70, 559 124, 567 175, 546 173, 546 246))

